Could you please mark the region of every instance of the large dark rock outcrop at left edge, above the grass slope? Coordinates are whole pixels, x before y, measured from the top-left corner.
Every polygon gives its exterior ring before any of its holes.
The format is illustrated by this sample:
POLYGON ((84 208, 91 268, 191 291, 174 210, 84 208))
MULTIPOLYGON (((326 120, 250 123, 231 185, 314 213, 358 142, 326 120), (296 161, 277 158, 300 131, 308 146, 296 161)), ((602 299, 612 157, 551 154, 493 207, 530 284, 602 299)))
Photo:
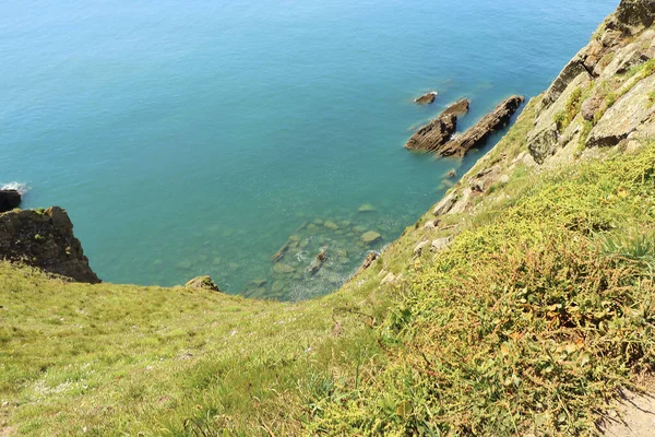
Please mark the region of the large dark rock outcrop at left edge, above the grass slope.
POLYGON ((98 283, 73 224, 59 206, 0 214, 0 259, 25 262, 78 282, 98 283))

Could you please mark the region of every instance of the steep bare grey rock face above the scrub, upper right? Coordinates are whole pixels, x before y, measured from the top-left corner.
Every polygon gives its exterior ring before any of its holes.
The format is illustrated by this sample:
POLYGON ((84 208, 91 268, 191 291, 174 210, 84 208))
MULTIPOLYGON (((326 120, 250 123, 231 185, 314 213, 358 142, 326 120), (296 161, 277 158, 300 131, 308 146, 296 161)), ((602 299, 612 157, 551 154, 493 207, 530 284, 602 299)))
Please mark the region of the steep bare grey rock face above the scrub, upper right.
POLYGON ((655 133, 652 0, 624 0, 544 95, 527 135, 534 160, 655 133))

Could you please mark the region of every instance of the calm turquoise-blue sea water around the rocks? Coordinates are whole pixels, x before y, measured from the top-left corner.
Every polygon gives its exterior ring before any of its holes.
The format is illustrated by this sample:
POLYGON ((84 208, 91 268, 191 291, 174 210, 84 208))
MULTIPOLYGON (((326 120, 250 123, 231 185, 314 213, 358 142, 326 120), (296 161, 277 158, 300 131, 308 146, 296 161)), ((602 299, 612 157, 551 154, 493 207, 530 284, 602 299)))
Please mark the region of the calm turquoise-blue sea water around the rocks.
POLYGON ((538 94, 617 3, 4 0, 0 182, 66 208, 105 281, 324 294, 484 152, 408 153, 414 128, 463 96, 466 128, 538 94))

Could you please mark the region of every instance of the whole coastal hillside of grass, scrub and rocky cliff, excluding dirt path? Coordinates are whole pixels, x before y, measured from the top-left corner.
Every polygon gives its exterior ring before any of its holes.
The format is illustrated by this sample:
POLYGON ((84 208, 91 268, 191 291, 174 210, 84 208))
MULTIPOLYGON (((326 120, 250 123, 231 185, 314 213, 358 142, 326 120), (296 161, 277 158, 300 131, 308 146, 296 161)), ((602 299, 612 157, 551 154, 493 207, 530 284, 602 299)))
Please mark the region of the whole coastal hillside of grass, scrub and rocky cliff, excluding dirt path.
MULTIPOLYGON (((655 1, 326 297, 0 263, 0 436, 594 435, 655 365, 655 1)), ((83 241, 82 241, 83 244, 83 241)))

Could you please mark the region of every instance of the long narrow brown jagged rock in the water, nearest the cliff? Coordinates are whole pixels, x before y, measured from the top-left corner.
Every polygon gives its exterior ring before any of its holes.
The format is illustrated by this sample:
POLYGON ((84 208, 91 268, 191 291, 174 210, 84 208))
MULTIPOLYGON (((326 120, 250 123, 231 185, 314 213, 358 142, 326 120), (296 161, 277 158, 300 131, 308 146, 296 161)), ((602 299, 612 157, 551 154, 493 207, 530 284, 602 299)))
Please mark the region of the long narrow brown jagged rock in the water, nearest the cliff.
POLYGON ((519 109, 524 101, 525 98, 523 96, 517 95, 507 98, 473 128, 468 129, 456 139, 433 149, 434 152, 442 156, 464 156, 471 149, 477 147, 487 140, 492 132, 507 126, 510 122, 512 115, 519 109))

